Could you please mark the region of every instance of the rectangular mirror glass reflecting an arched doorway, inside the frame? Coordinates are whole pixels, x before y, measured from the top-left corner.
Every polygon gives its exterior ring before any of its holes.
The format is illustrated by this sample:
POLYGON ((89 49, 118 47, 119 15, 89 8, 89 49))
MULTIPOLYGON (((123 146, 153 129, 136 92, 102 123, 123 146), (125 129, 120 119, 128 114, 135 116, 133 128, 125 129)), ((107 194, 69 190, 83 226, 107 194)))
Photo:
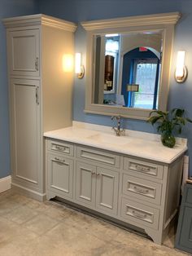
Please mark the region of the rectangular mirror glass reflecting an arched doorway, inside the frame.
POLYGON ((94 36, 94 104, 158 109, 162 34, 94 36))

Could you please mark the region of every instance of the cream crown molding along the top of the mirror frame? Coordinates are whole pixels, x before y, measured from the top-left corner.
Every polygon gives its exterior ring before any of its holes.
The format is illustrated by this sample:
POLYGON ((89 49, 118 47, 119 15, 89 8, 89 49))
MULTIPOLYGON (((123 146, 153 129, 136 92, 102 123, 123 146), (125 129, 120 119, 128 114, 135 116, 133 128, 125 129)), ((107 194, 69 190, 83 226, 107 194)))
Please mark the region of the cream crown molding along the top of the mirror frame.
POLYGON ((89 20, 81 22, 86 31, 97 29, 115 29, 122 27, 147 26, 158 24, 176 24, 181 14, 179 12, 160 13, 154 15, 137 15, 106 20, 89 20))

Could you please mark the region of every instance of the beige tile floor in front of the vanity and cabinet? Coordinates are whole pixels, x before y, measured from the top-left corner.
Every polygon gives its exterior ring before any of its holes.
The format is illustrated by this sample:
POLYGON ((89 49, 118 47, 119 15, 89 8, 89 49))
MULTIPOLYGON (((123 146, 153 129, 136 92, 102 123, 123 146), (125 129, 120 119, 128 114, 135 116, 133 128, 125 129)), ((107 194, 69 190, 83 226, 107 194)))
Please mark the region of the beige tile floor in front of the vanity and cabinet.
POLYGON ((181 256, 174 231, 164 245, 53 201, 0 194, 0 256, 181 256))

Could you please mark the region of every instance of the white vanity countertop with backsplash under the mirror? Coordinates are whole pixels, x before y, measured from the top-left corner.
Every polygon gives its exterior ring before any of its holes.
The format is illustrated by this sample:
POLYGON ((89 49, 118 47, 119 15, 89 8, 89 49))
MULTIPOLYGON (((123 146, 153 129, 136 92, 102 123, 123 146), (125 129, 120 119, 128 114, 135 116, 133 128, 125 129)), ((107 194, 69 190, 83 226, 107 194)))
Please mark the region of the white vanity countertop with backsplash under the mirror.
POLYGON ((172 163, 187 150, 186 139, 177 139, 174 148, 167 148, 160 142, 159 135, 126 130, 125 136, 118 137, 111 127, 77 121, 74 121, 71 127, 48 131, 44 136, 167 164, 172 163))

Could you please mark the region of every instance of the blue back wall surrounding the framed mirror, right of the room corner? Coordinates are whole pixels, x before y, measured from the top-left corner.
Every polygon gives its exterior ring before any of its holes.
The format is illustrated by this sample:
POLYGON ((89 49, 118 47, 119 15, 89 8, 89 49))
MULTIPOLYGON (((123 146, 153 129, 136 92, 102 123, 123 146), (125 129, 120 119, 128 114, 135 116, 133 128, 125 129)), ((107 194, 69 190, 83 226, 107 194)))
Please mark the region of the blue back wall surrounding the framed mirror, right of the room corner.
MULTIPOLYGON (((188 116, 192 117, 192 1, 191 0, 71 0, 51 1, 41 0, 39 10, 60 18, 79 23, 84 20, 116 18, 129 15, 147 15, 154 13, 180 11, 182 14, 175 29, 172 55, 171 84, 168 108, 185 108, 188 116), (174 64, 178 50, 185 50, 185 64, 189 70, 188 79, 184 84, 174 81, 174 64)), ((81 51, 85 60, 85 31, 78 26, 76 30, 76 51, 81 51)), ((76 121, 86 121, 95 124, 111 126, 111 118, 85 114, 85 78, 75 79, 73 118, 76 121)), ((145 121, 124 119, 124 127, 131 130, 155 132, 155 129, 145 121)), ((185 126, 183 137, 188 139, 190 161, 192 162, 192 125, 185 126)), ((192 175, 192 163, 190 164, 192 175)))

